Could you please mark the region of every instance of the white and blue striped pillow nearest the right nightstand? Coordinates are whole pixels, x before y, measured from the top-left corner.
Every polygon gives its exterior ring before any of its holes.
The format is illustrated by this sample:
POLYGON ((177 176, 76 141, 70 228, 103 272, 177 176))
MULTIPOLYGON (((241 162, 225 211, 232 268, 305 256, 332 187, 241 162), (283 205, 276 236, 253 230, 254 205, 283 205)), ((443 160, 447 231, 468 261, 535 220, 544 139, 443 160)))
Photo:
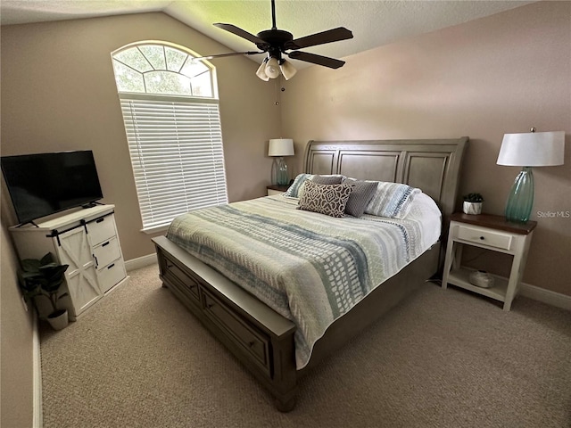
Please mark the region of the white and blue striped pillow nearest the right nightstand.
POLYGON ((365 213, 378 217, 405 218, 410 211, 410 203, 418 193, 420 189, 410 185, 380 181, 365 213))

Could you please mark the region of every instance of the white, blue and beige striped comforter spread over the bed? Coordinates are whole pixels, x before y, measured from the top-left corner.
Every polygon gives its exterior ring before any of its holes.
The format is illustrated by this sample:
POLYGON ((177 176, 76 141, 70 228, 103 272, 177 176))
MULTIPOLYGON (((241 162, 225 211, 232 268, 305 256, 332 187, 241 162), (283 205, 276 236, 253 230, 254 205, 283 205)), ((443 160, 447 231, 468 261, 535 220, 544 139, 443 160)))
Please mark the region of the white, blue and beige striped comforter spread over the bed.
POLYGON ((167 237, 294 321, 300 369, 335 319, 436 242, 440 212, 331 218, 296 206, 275 195, 195 210, 167 237))

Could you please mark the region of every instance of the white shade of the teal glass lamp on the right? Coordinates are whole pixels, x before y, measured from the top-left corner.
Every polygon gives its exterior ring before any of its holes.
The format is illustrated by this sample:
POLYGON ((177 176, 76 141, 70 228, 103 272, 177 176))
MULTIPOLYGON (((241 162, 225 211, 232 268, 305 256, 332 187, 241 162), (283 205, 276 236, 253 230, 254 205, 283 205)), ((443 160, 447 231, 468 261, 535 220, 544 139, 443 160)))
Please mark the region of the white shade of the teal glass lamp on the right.
POLYGON ((565 131, 505 134, 498 165, 548 167, 563 165, 565 131))

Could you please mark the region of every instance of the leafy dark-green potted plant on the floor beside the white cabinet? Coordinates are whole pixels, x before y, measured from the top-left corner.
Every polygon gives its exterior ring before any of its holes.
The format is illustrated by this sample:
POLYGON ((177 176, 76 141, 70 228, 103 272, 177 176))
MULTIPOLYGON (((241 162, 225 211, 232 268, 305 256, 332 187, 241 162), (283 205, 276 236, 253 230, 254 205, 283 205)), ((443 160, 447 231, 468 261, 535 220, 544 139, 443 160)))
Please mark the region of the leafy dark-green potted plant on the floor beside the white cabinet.
POLYGON ((47 315, 47 321, 54 330, 62 330, 68 325, 67 309, 58 307, 58 300, 68 295, 67 292, 60 294, 60 287, 65 280, 65 271, 69 265, 60 265, 51 252, 42 259, 21 260, 19 271, 22 292, 28 300, 34 302, 37 308, 37 298, 46 296, 51 304, 51 311, 47 315))

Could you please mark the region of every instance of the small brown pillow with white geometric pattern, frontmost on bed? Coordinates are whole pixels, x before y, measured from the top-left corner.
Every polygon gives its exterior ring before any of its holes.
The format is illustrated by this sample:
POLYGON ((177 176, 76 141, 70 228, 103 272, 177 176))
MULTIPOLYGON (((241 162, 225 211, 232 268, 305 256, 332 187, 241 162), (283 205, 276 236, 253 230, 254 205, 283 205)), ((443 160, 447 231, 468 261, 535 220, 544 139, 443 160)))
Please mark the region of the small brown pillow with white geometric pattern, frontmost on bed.
POLYGON ((352 185, 318 185, 308 180, 297 209, 341 218, 351 191, 352 185))

